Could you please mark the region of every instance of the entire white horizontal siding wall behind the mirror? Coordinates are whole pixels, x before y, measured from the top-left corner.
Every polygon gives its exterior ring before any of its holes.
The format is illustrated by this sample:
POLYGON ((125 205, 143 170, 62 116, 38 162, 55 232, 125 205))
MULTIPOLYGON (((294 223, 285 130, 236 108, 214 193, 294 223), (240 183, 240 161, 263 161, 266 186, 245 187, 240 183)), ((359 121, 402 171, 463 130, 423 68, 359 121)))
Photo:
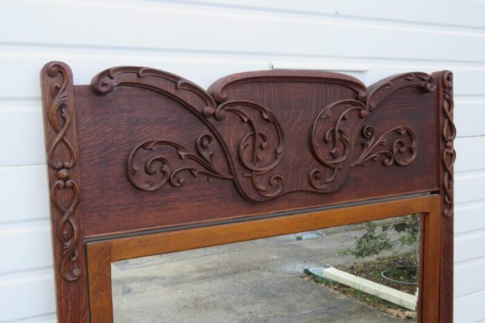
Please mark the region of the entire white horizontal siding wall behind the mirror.
POLYGON ((118 64, 207 87, 238 71, 321 67, 367 85, 455 72, 455 322, 485 320, 485 2, 2 1, 0 322, 55 322, 39 71, 75 84, 118 64))

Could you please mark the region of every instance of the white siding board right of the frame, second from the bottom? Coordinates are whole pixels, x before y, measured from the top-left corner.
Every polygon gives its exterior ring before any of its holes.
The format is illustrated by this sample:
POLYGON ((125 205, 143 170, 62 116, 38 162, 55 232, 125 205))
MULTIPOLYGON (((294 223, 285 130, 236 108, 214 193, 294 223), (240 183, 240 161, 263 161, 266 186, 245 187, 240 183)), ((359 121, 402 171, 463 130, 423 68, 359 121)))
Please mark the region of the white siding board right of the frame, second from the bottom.
POLYGON ((485 260, 466 265, 455 265, 455 297, 463 297, 485 290, 484 272, 485 260))

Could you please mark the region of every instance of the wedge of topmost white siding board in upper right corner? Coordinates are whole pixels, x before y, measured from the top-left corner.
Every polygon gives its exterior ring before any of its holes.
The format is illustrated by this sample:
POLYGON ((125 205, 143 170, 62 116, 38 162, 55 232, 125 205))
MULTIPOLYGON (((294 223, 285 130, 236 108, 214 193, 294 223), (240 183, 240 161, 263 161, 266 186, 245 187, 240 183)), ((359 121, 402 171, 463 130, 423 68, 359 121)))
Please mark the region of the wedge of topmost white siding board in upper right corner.
MULTIPOLYGON (((162 2, 162 1, 160 1, 162 2)), ((181 0, 183 3, 210 4, 211 6, 234 6, 258 8, 269 11, 302 12, 309 15, 333 15, 355 19, 378 19, 407 23, 443 24, 484 28, 485 8, 477 1, 449 1, 443 6, 439 1, 340 1, 340 0, 181 0), (379 10, 376 10, 379 8, 379 10), (420 10, 416 10, 420 8, 420 10), (446 19, 443 19, 446 17, 446 19)))

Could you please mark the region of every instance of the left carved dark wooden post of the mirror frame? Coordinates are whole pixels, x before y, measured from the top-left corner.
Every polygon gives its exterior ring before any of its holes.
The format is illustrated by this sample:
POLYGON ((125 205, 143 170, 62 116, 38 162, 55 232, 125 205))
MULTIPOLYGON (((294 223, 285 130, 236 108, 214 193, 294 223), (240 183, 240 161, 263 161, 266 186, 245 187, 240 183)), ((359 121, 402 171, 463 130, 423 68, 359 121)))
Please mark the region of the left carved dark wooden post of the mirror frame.
MULTIPOLYGON (((61 62, 49 62, 42 69, 41 80, 55 283, 58 295, 69 295, 58 299, 58 304, 87 304, 82 281, 85 279, 85 256, 77 208, 80 186, 71 69, 61 62), (60 290, 63 293, 59 293, 60 290)), ((65 311, 72 306, 58 308, 64 309, 58 313, 59 322, 75 322, 73 317, 76 322, 87 322, 87 315, 80 321, 79 313, 65 311)))

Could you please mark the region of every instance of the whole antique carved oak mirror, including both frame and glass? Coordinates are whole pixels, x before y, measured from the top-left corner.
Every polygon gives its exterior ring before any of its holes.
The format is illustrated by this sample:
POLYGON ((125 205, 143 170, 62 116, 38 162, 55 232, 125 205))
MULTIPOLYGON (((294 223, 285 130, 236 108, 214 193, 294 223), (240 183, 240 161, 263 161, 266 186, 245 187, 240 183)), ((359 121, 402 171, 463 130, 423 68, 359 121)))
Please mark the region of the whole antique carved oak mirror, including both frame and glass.
POLYGON ((450 71, 41 86, 58 322, 452 322, 450 71))

